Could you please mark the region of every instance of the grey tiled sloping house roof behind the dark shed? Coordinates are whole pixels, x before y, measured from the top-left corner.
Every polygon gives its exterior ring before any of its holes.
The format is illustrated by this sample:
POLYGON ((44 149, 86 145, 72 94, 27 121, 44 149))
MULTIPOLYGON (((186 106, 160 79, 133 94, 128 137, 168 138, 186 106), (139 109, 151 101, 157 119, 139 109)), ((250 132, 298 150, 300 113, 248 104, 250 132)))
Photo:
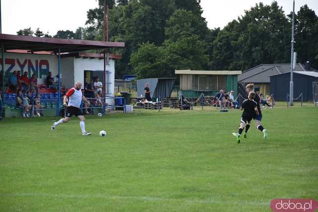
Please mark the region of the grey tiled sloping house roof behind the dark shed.
MULTIPOLYGON (((305 65, 301 63, 295 64, 294 70, 295 72, 318 72, 315 68, 311 68, 311 71, 306 70, 305 65)), ((260 64, 240 74, 238 81, 241 83, 269 83, 270 76, 288 72, 290 72, 290 63, 260 64)))

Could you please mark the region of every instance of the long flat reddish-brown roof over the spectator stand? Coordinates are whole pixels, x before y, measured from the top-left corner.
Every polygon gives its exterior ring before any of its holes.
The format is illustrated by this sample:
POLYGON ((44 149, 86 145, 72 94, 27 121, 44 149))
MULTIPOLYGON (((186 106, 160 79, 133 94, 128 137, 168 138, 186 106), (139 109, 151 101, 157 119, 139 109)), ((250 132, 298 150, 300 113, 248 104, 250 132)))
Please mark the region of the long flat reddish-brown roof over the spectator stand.
POLYGON ((123 42, 103 42, 58 38, 40 38, 22 35, 0 34, 0 43, 5 50, 29 50, 31 52, 55 52, 60 48, 61 53, 79 52, 112 47, 125 47, 123 42))

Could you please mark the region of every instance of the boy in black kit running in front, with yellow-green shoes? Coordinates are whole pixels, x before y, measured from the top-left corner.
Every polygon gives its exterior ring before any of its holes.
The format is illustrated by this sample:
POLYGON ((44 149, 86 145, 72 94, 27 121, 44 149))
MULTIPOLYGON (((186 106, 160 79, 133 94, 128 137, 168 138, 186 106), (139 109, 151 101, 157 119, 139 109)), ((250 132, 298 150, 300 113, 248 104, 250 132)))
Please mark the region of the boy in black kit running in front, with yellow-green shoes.
POLYGON ((233 133, 233 135, 235 137, 237 137, 238 143, 240 143, 240 135, 242 134, 245 125, 246 126, 249 125, 252 118, 259 115, 258 110, 257 110, 257 103, 254 102, 254 100, 253 100, 255 98, 255 95, 256 94, 254 92, 249 92, 248 99, 245 100, 242 103, 242 106, 240 107, 240 110, 244 109, 244 111, 243 111, 241 119, 240 119, 239 133, 233 133))

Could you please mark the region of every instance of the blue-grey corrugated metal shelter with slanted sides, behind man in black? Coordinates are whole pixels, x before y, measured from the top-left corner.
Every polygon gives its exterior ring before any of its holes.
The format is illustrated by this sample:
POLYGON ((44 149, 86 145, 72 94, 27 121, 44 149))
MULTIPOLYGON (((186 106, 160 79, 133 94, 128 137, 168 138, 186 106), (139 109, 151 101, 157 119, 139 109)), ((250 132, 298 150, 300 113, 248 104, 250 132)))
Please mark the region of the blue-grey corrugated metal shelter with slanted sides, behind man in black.
POLYGON ((151 98, 168 98, 171 96, 171 92, 176 78, 148 78, 137 80, 137 93, 138 96, 145 97, 146 83, 149 83, 149 90, 151 91, 151 98))

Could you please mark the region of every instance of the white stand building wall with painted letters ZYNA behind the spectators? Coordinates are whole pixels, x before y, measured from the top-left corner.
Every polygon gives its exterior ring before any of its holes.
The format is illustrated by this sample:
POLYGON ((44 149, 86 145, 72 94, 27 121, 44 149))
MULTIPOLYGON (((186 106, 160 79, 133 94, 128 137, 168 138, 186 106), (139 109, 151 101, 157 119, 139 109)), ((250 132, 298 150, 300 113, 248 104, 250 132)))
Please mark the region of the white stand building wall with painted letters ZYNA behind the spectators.
MULTIPOLYGON (((7 78, 13 71, 25 71, 31 77, 35 74, 38 85, 45 84, 48 72, 52 76, 58 75, 58 56, 49 52, 28 53, 25 50, 12 50, 4 53, 4 72, 7 78), (10 53, 9 53, 10 52, 10 53)), ((84 77, 98 76, 106 88, 107 96, 114 96, 115 61, 119 55, 110 55, 109 64, 106 65, 106 83, 103 81, 104 61, 103 54, 99 53, 64 53, 61 54, 62 86, 72 88, 77 81, 84 85, 84 77)), ((0 62, 2 65, 2 62, 0 62)), ((108 103, 111 104, 111 100, 108 103)))

